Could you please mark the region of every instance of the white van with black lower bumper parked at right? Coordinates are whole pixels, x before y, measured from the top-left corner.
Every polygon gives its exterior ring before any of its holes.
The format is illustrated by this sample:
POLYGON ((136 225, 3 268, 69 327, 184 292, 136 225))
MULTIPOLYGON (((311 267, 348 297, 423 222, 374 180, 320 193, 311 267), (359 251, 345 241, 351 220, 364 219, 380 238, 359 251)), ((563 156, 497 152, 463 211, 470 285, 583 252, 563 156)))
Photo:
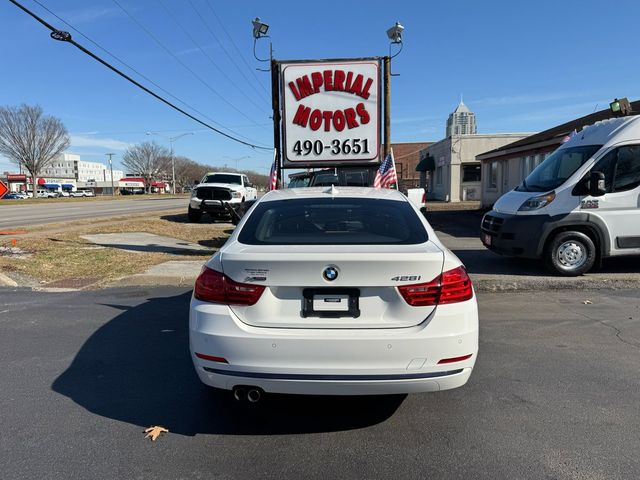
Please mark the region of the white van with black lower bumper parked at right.
POLYGON ((640 255, 640 116, 574 133, 482 219, 481 239, 509 256, 582 275, 606 257, 640 255))

